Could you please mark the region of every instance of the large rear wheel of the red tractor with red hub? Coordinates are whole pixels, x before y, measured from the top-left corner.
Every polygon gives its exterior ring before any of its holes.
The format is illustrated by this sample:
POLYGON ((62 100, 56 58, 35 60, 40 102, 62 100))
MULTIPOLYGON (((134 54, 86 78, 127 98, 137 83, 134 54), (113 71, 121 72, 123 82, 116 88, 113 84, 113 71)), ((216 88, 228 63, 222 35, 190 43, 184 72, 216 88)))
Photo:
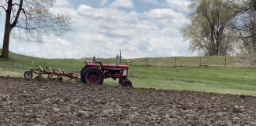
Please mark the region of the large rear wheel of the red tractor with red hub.
POLYGON ((101 85, 104 80, 104 75, 98 68, 88 68, 84 74, 85 83, 101 85))

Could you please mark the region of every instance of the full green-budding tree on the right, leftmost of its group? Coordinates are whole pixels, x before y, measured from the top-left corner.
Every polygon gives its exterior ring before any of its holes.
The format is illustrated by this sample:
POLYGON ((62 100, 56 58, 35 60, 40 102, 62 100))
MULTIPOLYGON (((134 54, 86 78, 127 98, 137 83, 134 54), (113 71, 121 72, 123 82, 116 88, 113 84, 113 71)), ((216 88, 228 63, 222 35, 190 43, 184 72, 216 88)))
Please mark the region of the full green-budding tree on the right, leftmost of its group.
POLYGON ((191 50, 205 55, 226 55, 228 26, 235 12, 226 0, 194 0, 190 5, 190 24, 183 28, 183 36, 190 40, 191 50), (227 40, 227 39, 226 39, 227 40))

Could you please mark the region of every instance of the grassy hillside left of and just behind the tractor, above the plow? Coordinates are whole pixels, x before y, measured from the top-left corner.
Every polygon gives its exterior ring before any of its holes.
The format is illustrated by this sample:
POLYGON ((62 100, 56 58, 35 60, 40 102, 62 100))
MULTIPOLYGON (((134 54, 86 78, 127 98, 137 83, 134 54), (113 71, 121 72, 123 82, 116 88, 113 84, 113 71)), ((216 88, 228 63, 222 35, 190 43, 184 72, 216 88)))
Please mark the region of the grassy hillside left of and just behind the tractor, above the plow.
MULTIPOLYGON (((88 59, 87 59, 88 60, 88 59)), ((114 63, 114 59, 99 59, 104 63, 110 64, 114 63)), ((28 57, 21 54, 9 53, 9 59, 0 58, 0 68, 5 69, 32 69, 39 68, 39 66, 45 68, 46 66, 51 66, 54 68, 65 69, 71 72, 79 72, 81 68, 85 65, 85 59, 43 59, 38 57, 28 57)))

